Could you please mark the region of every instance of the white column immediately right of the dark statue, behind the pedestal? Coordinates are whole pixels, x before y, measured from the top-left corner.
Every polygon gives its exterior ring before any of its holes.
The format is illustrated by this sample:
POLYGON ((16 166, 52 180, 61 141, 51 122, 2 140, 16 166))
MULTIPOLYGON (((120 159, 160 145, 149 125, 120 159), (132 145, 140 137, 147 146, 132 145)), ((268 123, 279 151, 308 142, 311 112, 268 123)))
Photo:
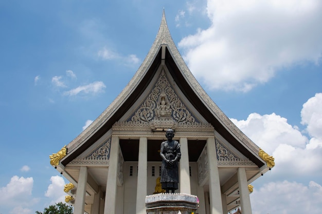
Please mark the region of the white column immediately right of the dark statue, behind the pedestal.
POLYGON ((180 192, 191 194, 187 138, 180 138, 180 192))

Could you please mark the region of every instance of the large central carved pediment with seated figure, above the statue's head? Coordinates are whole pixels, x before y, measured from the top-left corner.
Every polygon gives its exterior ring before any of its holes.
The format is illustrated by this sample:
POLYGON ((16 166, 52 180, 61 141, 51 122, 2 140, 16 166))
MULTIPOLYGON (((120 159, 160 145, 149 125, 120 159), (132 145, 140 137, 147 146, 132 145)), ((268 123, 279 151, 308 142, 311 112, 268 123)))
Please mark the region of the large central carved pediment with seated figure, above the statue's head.
POLYGON ((113 130, 121 127, 136 130, 165 130, 168 128, 188 130, 213 131, 210 124, 202 124, 171 87, 169 80, 164 72, 152 88, 147 98, 126 120, 117 122, 113 130))

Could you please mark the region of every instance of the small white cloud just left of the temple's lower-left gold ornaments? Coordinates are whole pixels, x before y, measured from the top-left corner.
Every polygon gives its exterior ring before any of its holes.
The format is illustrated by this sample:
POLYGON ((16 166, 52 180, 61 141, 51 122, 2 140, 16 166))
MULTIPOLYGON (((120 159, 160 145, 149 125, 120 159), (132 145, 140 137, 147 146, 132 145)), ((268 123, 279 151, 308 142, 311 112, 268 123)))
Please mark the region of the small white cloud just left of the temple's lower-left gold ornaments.
POLYGON ((60 176, 52 176, 51 184, 48 186, 45 196, 51 199, 50 204, 64 202, 66 193, 64 192, 65 181, 60 176))

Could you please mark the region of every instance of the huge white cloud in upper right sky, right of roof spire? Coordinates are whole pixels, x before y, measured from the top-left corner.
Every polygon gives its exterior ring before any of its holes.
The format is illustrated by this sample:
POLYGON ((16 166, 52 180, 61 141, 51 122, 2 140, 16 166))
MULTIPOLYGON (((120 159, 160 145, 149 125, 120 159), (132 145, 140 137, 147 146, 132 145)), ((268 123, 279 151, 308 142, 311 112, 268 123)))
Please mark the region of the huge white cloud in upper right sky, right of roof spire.
POLYGON ((322 2, 208 0, 211 26, 178 44, 209 89, 248 91, 284 67, 319 63, 322 2))

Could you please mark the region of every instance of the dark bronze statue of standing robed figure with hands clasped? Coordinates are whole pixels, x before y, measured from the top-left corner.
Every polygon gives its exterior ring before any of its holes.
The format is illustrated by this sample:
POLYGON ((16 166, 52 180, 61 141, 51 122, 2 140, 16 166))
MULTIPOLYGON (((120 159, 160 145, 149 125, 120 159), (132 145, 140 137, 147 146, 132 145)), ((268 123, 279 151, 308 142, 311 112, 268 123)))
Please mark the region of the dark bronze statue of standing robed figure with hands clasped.
POLYGON ((161 167, 161 184, 162 189, 165 189, 167 193, 171 190, 178 189, 179 174, 178 174, 178 161, 181 158, 180 144, 172 140, 174 137, 174 131, 168 129, 166 131, 167 141, 161 143, 160 156, 162 160, 161 167))

